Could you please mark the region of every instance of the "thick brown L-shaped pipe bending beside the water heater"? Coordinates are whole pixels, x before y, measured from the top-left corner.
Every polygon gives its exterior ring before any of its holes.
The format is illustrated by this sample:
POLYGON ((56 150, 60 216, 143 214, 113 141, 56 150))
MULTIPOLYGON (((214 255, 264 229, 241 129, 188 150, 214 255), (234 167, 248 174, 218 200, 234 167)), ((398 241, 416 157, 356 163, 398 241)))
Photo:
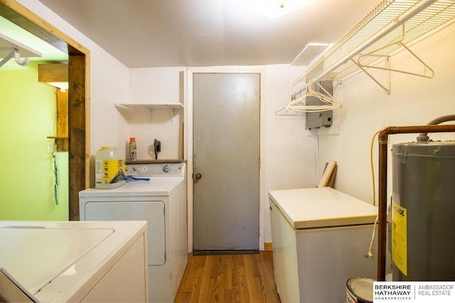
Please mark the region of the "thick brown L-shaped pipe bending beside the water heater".
POLYGON ((378 168, 378 281, 385 281, 385 253, 387 237, 387 143, 389 135, 397 133, 449 133, 455 132, 455 124, 426 126, 389 126, 380 131, 378 168))

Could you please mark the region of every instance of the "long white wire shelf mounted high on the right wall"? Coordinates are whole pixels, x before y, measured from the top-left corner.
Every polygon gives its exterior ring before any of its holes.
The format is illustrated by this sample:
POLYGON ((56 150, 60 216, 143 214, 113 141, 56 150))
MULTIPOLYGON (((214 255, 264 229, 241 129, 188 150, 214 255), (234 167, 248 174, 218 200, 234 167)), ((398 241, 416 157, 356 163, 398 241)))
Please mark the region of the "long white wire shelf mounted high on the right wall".
POLYGON ((401 49, 402 45, 398 42, 409 45, 454 18, 455 1, 383 0, 313 62, 293 85, 302 81, 318 82, 321 79, 338 81, 359 70, 365 71, 358 64, 359 55, 375 53, 375 56, 362 58, 362 65, 370 67, 380 60, 378 58, 388 58, 401 49))

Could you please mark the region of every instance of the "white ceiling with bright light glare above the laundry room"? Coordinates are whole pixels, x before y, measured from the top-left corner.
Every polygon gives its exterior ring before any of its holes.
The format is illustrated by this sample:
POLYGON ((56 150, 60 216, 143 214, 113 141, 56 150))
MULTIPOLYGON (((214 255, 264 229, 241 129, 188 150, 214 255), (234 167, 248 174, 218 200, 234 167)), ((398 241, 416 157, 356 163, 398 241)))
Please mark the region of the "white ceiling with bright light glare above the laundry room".
MULTIPOLYGON (((333 43, 380 0, 315 0, 269 19, 266 0, 40 0, 127 67, 290 64, 333 43)), ((53 24, 58 27, 58 24, 53 24)))

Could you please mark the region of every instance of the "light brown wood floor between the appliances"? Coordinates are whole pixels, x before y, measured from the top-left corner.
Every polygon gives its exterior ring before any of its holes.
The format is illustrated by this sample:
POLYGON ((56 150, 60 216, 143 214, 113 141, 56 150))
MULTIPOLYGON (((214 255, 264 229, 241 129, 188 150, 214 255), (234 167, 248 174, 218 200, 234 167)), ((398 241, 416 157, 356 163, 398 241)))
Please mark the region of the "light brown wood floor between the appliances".
POLYGON ((280 302, 272 251, 252 255, 188 255, 180 302, 280 302))

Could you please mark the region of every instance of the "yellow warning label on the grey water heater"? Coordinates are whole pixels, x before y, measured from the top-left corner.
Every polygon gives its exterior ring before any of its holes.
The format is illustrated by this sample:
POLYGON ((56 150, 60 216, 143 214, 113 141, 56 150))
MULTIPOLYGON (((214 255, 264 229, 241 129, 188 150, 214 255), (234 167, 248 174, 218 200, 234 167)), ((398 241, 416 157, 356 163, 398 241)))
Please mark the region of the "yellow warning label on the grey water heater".
POLYGON ((406 222, 406 209, 392 202, 392 260, 404 275, 407 275, 406 222))

